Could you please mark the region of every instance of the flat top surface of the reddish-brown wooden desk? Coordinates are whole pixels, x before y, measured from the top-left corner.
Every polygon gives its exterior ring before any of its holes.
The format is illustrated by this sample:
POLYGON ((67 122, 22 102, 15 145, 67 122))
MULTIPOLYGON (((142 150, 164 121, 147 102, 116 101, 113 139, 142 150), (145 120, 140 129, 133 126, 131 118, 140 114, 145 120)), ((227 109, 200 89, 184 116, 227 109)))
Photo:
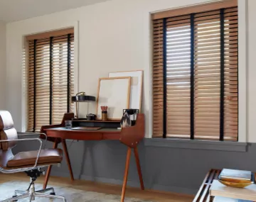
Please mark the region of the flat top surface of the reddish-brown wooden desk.
POLYGON ((100 128, 99 130, 77 130, 72 128, 58 127, 58 128, 46 128, 44 130, 65 131, 65 132, 72 132, 72 133, 120 133, 121 132, 121 130, 117 128, 100 128))

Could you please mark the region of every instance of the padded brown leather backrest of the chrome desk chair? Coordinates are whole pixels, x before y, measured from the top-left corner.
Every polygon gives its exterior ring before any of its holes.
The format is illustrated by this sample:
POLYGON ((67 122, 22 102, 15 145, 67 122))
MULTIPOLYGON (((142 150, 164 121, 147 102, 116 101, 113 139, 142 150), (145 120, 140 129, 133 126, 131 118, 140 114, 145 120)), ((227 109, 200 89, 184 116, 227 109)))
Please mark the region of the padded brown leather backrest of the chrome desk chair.
MULTIPOLYGON (((16 140, 18 134, 14 128, 14 120, 9 111, 0 111, 0 140, 16 140)), ((16 141, 0 142, 0 150, 9 150, 15 147, 16 141)))

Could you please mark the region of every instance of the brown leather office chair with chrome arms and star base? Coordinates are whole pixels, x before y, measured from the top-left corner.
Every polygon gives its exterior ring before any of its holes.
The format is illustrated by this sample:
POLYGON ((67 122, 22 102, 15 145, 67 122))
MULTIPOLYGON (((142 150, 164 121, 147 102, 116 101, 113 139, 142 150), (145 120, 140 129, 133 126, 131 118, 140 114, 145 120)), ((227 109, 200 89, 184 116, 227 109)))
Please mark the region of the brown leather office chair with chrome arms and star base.
MULTIPOLYGON (((29 184, 26 191, 15 191, 12 198, 8 198, 1 202, 18 201, 21 198, 29 198, 29 201, 34 201, 35 198, 60 198, 63 201, 66 199, 63 196, 55 196, 53 188, 42 189, 35 191, 34 183, 38 176, 43 171, 42 167, 48 167, 53 164, 60 164, 63 159, 63 151, 60 149, 46 149, 43 150, 43 141, 40 138, 25 138, 29 135, 45 135, 43 133, 17 133, 14 128, 14 121, 11 118, 9 111, 0 111, 0 172, 11 174, 17 172, 26 172, 31 177, 31 184, 29 184), (40 142, 39 150, 29 152, 19 152, 13 155, 11 151, 18 142, 30 141, 31 143, 37 140, 40 142), (50 191, 50 194, 46 194, 50 191)), ((47 139, 47 137, 46 137, 47 139)), ((0 194, 2 195, 0 190, 0 194)))

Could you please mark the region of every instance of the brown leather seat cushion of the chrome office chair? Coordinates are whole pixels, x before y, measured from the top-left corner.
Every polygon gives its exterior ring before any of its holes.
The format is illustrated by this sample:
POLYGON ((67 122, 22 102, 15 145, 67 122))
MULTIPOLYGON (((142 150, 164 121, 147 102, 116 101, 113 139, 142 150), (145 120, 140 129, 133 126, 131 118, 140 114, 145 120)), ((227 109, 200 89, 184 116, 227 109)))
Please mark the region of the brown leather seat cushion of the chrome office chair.
MULTIPOLYGON (((36 163, 38 151, 19 152, 7 162, 8 168, 28 167, 36 163)), ((58 164, 63 159, 63 151, 60 149, 41 150, 38 158, 38 165, 41 164, 58 164)))

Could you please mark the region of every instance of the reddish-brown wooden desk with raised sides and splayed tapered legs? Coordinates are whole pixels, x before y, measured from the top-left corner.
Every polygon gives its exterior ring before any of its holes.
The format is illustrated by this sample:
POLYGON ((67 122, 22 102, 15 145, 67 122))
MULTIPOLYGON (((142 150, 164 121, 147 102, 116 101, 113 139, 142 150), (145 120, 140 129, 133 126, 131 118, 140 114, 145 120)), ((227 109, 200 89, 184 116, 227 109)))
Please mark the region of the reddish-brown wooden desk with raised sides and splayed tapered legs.
MULTIPOLYGON (((65 140, 120 140, 120 142, 122 142, 124 145, 127 145, 127 159, 125 165, 121 201, 124 201, 129 170, 129 160, 131 157, 132 149, 134 150, 134 155, 137 163, 137 170, 139 173, 141 189, 144 190, 142 170, 140 167, 139 153, 137 150, 138 143, 144 138, 144 114, 139 113, 137 115, 136 123, 134 123, 134 125, 131 127, 122 128, 122 130, 117 129, 120 126, 119 122, 112 120, 73 120, 73 127, 100 127, 99 130, 73 130, 72 128, 65 128, 65 120, 70 120, 72 118, 74 118, 74 113, 65 113, 63 121, 60 125, 45 125, 41 128, 41 132, 46 133, 46 135, 48 136, 48 141, 53 142, 53 148, 57 148, 59 143, 62 144, 65 158, 68 163, 71 180, 74 180, 74 176, 65 140)), ((44 136, 42 136, 41 138, 43 137, 44 136)), ((48 167, 48 170, 46 172, 46 179, 43 184, 44 189, 48 184, 50 170, 51 166, 48 167)))

